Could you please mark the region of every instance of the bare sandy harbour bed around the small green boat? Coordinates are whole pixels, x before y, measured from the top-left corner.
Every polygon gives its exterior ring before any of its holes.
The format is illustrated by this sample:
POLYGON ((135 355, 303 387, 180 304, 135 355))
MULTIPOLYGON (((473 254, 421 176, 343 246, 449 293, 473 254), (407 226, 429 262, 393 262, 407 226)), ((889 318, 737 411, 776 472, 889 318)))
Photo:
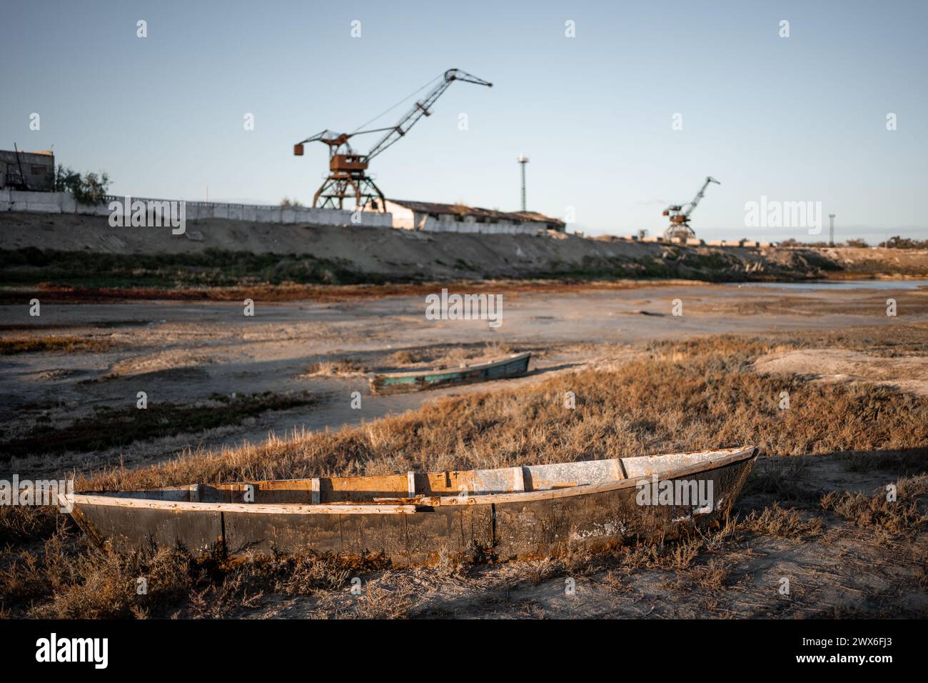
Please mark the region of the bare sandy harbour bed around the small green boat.
MULTIPOLYGON (((106 339, 117 348, 93 353, 43 352, 0 357, 0 414, 6 437, 35 424, 89 413, 94 406, 148 401, 188 403, 213 394, 308 391, 312 405, 249 418, 237 427, 136 443, 106 453, 29 458, 21 468, 140 465, 185 448, 263 440, 291 430, 356 425, 416 408, 424 401, 487 385, 398 396, 372 396, 363 372, 309 374, 313 363, 350 359, 364 369, 400 367, 392 354, 426 349, 432 360, 532 350, 530 373, 496 383, 515 386, 574 372, 590 363, 621 361, 623 347, 651 339, 777 330, 836 330, 928 319, 928 292, 888 290, 771 290, 737 285, 646 286, 628 290, 503 293, 503 322, 428 321, 420 296, 341 303, 262 303, 253 317, 226 302, 46 304, 32 318, 24 306, 2 306, 4 337, 77 335, 106 339), (897 317, 886 316, 886 299, 897 317), (682 315, 673 315, 675 301, 682 315), (362 395, 360 409, 352 394, 362 395)), ((427 363, 432 364, 432 363, 427 363)), ((865 353, 792 352, 762 359, 758 371, 815 374, 823 379, 875 379, 924 393, 924 359, 885 359, 865 353)), ((37 454, 38 455, 38 454, 37 454)))

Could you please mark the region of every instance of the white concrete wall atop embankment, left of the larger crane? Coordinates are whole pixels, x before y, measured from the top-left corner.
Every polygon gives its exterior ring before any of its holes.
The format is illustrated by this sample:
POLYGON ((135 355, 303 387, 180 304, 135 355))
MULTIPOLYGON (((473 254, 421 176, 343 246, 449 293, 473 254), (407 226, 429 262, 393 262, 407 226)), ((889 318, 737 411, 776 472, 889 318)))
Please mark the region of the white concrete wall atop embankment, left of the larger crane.
MULTIPOLYGON (((118 197, 124 201, 124 197, 118 197)), ((132 200, 147 201, 145 197, 132 200)), ((161 201, 161 200, 160 200, 161 201)), ((86 206, 77 204, 67 192, 25 192, 0 190, 0 211, 31 211, 44 214, 85 214, 110 216, 110 204, 86 206)), ((360 221, 352 222, 352 211, 339 209, 314 209, 305 206, 261 206, 257 204, 220 204, 187 202, 186 219, 228 218, 252 223, 311 223, 313 225, 362 225, 375 228, 392 228, 390 214, 362 211, 360 221)))

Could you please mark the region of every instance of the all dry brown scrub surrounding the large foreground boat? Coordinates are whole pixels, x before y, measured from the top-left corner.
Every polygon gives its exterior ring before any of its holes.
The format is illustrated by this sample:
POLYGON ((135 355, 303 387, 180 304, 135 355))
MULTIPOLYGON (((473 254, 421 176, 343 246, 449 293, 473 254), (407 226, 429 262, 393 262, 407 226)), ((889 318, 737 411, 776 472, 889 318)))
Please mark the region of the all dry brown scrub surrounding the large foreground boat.
MULTIPOLYGON (((480 596, 470 599, 472 609, 543 616, 549 603, 539 601, 536 592, 554 586, 555 593, 562 593, 566 578, 621 598, 643 590, 642 577, 656 573, 678 592, 715 600, 735 590, 732 586, 741 586, 743 571, 734 567, 750 557, 758 539, 795 547, 828 546, 844 537, 848 524, 859 527, 857 533, 879 528, 888 534, 874 543, 923 534, 928 479, 918 472, 925 469, 928 401, 883 387, 821 384, 751 371, 752 360, 771 348, 825 341, 802 335, 726 335, 654 343, 634 360, 608 371, 586 370, 519 389, 449 398, 361 427, 300 433, 218 451, 194 450, 146 468, 78 473, 78 488, 129 489, 191 481, 512 466, 736 443, 761 446, 768 457, 758 464, 742 496, 753 503, 736 509, 721 528, 709 532, 618 546, 595 555, 569 551, 562 557, 498 567, 445 559, 433 568, 397 571, 378 558, 346 564, 343 558, 312 555, 251 558, 226 566, 217 558, 193 558, 183 548, 139 549, 132 557, 116 556, 88 545, 54 513, 7 508, 0 509, 0 545, 6 545, 0 553, 0 611, 34 617, 216 617, 260 609, 276 596, 303 600, 306 616, 396 618, 447 614, 450 608, 432 604, 438 599, 435 595, 450 591, 464 596, 472 591, 480 596), (562 408, 568 390, 576 396, 573 411, 562 408), (791 408, 781 411, 778 397, 784 390, 790 392, 791 408), (916 474, 896 482, 896 504, 885 500, 884 491, 836 491, 826 493, 820 506, 811 504, 824 492, 804 481, 809 457, 836 455, 857 470, 886 472, 895 467, 887 453, 906 453, 900 462, 916 474), (873 458, 872 467, 867 466, 868 457, 873 458), (805 543, 813 539, 816 544, 805 543), (139 598, 135 579, 142 575, 148 577, 149 589, 139 598), (365 585, 360 597, 348 591, 354 576, 365 585), (522 598, 510 597, 515 594, 522 598)), ((921 339, 911 341, 920 343, 921 339)), ((896 350, 907 350, 904 340, 896 350)), ((397 354, 393 361, 421 360, 397 354)), ((923 581, 919 576, 917 569, 911 571, 913 585, 923 581)), ((773 593, 764 613, 782 609, 775 588, 773 593)), ((805 606, 807 614, 820 613, 810 596, 797 593, 795 605, 805 606)))

